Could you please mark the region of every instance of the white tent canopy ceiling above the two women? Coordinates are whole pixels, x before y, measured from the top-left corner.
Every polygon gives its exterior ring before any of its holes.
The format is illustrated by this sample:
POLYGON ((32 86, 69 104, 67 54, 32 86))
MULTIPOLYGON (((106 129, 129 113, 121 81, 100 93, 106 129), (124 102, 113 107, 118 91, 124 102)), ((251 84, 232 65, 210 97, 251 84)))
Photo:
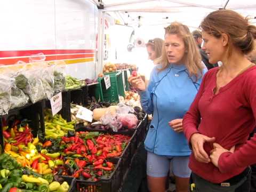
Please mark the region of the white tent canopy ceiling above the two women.
MULTIPOLYGON (((197 28, 202 19, 218 9, 235 10, 245 17, 256 17, 255 0, 102 0, 103 11, 129 26, 164 25, 179 21, 197 28), (140 18, 140 19, 139 19, 140 18)), ((256 24, 256 19, 251 19, 256 24)))

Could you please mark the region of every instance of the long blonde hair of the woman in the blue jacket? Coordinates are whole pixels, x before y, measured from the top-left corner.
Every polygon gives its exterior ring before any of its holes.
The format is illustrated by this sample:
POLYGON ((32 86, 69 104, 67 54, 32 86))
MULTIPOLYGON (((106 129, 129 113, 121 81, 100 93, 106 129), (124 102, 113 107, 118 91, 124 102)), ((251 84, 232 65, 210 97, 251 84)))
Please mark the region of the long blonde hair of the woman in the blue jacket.
MULTIPOLYGON (((190 76, 195 76, 196 79, 202 77, 203 73, 203 64, 201 60, 201 54, 199 53, 199 49, 195 42, 194 37, 191 35, 188 27, 186 25, 182 25, 179 22, 173 22, 170 26, 165 28, 166 34, 175 34, 183 39, 185 44, 185 54, 183 56, 183 61, 188 69, 188 73, 190 76)), ((162 69, 166 69, 170 63, 168 62, 166 51, 162 49, 162 56, 155 61, 156 63, 162 64, 162 69)))

